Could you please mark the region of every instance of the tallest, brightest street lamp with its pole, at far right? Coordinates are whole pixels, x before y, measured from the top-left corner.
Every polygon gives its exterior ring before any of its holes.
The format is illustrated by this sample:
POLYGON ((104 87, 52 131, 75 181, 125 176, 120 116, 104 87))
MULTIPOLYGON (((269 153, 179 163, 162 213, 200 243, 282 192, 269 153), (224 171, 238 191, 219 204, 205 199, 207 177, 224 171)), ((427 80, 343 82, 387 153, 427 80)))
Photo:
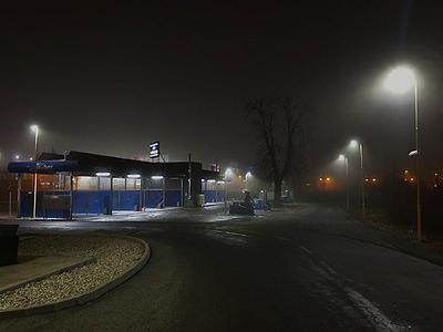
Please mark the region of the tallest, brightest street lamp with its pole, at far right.
POLYGON ((415 125, 415 151, 410 156, 415 156, 416 168, 416 237, 422 241, 422 216, 420 201, 420 151, 419 151, 419 97, 418 83, 414 71, 408 66, 393 69, 384 80, 384 87, 392 93, 403 94, 413 91, 414 94, 414 125, 415 125))

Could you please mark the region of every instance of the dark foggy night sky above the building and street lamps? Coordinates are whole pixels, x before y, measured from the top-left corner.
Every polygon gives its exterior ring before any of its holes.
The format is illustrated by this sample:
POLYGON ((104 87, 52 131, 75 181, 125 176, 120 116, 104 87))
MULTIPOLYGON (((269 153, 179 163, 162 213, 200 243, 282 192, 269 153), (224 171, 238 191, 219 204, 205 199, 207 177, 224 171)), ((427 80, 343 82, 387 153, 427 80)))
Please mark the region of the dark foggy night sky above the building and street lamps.
POLYGON ((161 141, 172 159, 246 167, 256 143, 244 105, 272 94, 317 111, 313 168, 356 137, 369 167, 389 172, 410 163, 413 103, 379 85, 408 62, 423 158, 443 168, 440 1, 124 2, 2 6, 2 163, 32 154, 38 123, 45 151, 131 157, 161 141))

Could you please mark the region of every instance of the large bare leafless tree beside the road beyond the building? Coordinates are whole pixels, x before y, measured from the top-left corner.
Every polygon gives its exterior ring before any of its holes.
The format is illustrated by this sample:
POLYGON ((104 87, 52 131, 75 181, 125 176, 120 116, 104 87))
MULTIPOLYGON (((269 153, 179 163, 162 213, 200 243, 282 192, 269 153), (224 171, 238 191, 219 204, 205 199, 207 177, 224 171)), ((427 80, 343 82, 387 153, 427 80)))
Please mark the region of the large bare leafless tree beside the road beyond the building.
POLYGON ((251 101, 247 114, 257 129, 265 176, 274 183, 274 205, 281 205, 282 180, 292 184, 303 167, 311 110, 291 97, 251 101))

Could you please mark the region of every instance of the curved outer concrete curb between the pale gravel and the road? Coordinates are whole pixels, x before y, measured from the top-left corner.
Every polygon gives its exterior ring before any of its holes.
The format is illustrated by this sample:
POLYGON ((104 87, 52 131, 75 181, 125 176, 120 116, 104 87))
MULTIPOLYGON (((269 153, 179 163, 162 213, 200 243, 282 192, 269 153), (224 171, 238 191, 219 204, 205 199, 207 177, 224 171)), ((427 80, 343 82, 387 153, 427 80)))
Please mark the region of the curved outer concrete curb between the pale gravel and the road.
POLYGON ((132 276, 137 273, 151 258, 151 247, 147 242, 145 242, 142 239, 135 238, 135 237, 125 236, 125 238, 136 240, 145 248, 143 256, 136 266, 127 269, 126 271, 124 271, 122 274, 114 278, 110 282, 107 282, 105 284, 101 284, 101 286, 96 287, 95 289, 92 289, 87 293, 83 293, 75 298, 70 298, 70 299, 61 300, 58 302, 30 307, 30 308, 25 308, 25 309, 1 310, 0 319, 19 318, 19 317, 25 317, 25 315, 32 315, 32 314, 39 314, 39 313, 47 313, 47 312, 66 309, 66 308, 74 307, 74 305, 81 305, 81 304, 91 302, 91 301, 100 298, 101 295, 104 295, 112 289, 122 284, 127 279, 130 279, 132 276))

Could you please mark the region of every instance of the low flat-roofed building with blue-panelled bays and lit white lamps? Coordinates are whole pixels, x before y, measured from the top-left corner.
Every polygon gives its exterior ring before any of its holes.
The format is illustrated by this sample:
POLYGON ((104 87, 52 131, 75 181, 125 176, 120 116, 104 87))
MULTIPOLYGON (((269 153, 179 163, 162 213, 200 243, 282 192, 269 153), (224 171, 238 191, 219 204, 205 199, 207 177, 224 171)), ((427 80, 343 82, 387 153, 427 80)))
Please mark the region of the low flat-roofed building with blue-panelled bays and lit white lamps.
POLYGON ((8 169, 18 175, 18 217, 34 214, 34 179, 39 218, 197 206, 199 195, 206 201, 225 200, 219 173, 196 162, 150 163, 71 151, 12 162, 8 169))

